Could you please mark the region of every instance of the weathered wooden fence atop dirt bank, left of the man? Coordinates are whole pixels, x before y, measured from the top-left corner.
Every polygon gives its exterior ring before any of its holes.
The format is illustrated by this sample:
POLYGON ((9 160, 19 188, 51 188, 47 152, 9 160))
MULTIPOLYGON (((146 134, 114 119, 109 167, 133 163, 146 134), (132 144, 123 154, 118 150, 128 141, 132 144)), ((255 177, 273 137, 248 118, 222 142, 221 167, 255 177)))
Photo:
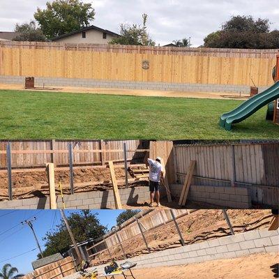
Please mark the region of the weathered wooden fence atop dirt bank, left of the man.
MULTIPOLYGON (((45 167, 46 163, 69 165, 66 140, 0 140, 0 169, 7 167, 6 148, 10 142, 12 167, 45 167)), ((72 141, 73 165, 103 165, 108 160, 123 161, 123 144, 127 159, 141 158, 135 150, 144 147, 140 140, 81 140, 72 141), (133 150, 133 151, 131 151, 133 150), (111 152, 107 152, 111 151, 111 152)))

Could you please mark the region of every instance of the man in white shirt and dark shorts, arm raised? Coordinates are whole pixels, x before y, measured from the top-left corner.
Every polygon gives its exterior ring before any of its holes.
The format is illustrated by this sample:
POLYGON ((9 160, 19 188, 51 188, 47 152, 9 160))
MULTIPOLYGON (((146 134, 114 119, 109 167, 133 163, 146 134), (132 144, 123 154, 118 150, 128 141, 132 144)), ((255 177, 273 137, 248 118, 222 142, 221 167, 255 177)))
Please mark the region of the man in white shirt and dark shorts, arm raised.
POLYGON ((161 165, 161 158, 156 160, 147 159, 149 163, 149 191, 150 191, 150 207, 153 207, 154 197, 157 206, 160 206, 160 179, 163 176, 163 166, 161 165))

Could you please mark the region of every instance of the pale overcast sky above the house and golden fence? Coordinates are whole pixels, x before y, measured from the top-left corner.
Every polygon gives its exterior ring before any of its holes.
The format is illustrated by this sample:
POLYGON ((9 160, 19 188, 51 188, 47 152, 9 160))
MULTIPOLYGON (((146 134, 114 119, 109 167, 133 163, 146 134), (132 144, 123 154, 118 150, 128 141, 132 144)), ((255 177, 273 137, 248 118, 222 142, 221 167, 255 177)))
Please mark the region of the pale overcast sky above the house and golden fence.
MULTIPOLYGON (((202 45, 207 34, 216 31, 232 15, 269 18, 271 29, 279 29, 279 6, 274 0, 84 0, 93 3, 93 24, 118 32, 121 22, 142 23, 142 13, 149 15, 147 25, 156 44, 191 37, 194 46, 202 45)), ((0 0, 0 31, 13 31, 15 23, 33 19, 37 7, 46 0, 0 0)))

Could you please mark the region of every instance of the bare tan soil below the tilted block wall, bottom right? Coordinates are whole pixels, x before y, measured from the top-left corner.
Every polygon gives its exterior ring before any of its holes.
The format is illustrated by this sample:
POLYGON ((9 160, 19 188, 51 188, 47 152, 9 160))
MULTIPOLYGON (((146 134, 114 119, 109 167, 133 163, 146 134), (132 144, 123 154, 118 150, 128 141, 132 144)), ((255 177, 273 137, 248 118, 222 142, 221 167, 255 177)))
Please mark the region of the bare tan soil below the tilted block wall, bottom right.
POLYGON ((133 274, 137 279, 278 278, 278 257, 278 253, 259 253, 235 259, 218 259, 198 264, 160 266, 156 269, 133 269, 133 274))

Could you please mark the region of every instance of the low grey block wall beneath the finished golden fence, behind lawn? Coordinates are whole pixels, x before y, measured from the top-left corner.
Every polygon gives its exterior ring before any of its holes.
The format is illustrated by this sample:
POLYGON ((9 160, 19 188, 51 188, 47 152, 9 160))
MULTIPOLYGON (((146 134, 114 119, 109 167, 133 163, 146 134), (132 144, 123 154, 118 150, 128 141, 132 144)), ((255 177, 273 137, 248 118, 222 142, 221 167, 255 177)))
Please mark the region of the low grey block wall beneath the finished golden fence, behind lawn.
MULTIPOLYGON (((24 77, 0 75, 0 83, 24 84, 24 77)), ((64 77, 35 77, 35 86, 82 86, 121 89, 150 89, 192 92, 232 92, 250 93, 250 86, 233 84, 181 84, 168 82, 130 82, 125 80, 91 80, 64 77)), ((259 87, 259 91, 266 86, 259 87)))

